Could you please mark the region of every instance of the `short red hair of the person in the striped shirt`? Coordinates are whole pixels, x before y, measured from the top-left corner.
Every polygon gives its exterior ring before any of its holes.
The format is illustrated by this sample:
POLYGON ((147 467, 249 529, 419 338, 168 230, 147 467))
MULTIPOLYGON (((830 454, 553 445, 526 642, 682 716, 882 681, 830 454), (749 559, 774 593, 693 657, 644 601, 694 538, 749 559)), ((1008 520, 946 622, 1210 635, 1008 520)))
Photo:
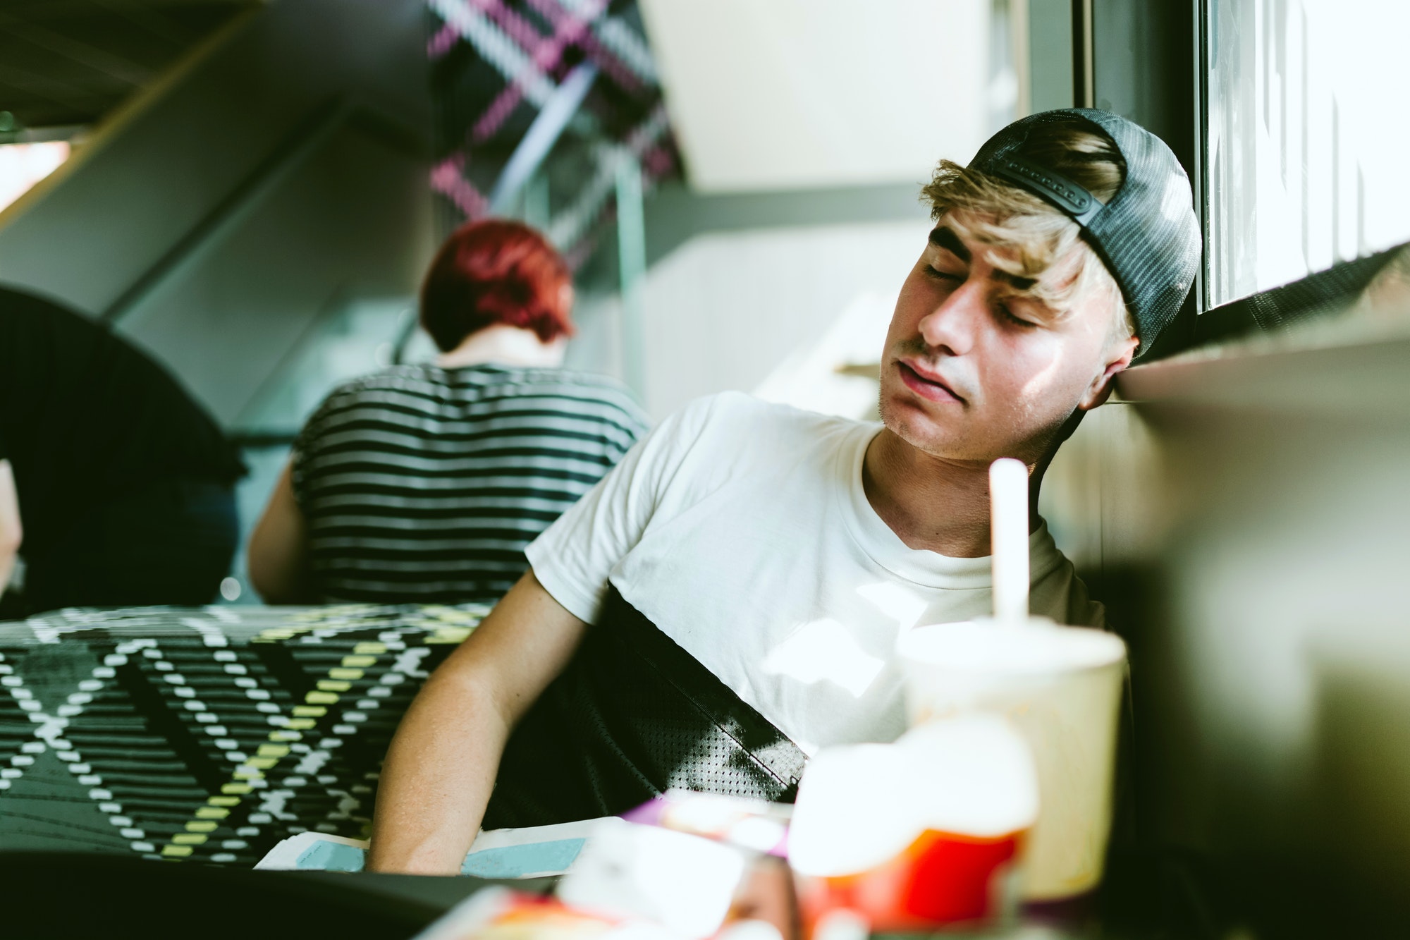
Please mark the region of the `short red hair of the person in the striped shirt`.
POLYGON ((422 284, 422 326, 443 353, 505 323, 544 343, 572 336, 572 272, 548 240, 509 219, 457 229, 422 284))

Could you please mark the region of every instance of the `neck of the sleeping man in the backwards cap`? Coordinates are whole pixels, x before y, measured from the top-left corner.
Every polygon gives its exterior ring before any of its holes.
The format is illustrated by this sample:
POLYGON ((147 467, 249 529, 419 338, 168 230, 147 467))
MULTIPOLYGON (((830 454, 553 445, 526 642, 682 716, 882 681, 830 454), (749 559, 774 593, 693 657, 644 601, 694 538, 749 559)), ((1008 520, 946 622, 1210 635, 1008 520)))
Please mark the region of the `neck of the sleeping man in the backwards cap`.
MULTIPOLYGON (((1042 467, 1029 477, 1029 517, 1038 525, 1042 467)), ((908 548, 950 558, 990 553, 988 466, 943 460, 890 429, 871 439, 862 463, 867 502, 908 548)))

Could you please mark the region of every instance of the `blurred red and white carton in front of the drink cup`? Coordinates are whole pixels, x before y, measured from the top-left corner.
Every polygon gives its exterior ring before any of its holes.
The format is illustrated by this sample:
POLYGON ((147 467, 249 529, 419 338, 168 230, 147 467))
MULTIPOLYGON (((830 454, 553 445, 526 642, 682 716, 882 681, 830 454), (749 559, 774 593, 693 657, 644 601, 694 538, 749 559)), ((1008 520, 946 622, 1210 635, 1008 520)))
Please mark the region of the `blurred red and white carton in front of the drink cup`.
MULTIPOLYGON (((1038 817, 1038 775, 1005 720, 966 716, 895 744, 819 751, 804 772, 790 861, 804 919, 854 910, 873 929, 995 919, 1038 817)), ((821 929, 821 927, 819 927, 821 929)))

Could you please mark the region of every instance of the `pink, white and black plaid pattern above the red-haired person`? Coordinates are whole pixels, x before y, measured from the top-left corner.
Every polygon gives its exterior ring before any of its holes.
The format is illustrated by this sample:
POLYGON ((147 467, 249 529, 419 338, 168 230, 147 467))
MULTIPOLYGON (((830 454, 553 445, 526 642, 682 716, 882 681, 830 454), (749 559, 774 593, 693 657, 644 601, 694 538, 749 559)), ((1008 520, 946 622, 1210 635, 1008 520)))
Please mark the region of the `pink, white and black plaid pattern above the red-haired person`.
POLYGON ((634 158, 643 186, 677 174, 656 64, 634 0, 426 0, 436 99, 431 188, 441 222, 488 213, 488 193, 540 109, 572 69, 598 78, 540 169, 547 234, 574 267, 613 212, 618 161, 634 158))

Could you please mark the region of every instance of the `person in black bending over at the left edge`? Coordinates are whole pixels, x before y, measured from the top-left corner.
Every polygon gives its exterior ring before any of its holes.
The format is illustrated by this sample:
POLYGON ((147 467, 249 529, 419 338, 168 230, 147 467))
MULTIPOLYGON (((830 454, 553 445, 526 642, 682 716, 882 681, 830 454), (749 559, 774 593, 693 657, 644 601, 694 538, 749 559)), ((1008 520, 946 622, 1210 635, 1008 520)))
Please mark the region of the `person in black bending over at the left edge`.
POLYGON ((0 552, 18 549, 25 563, 11 615, 214 600, 237 539, 235 450, 144 353, 4 288, 0 460, 13 469, 21 529, 0 552))

